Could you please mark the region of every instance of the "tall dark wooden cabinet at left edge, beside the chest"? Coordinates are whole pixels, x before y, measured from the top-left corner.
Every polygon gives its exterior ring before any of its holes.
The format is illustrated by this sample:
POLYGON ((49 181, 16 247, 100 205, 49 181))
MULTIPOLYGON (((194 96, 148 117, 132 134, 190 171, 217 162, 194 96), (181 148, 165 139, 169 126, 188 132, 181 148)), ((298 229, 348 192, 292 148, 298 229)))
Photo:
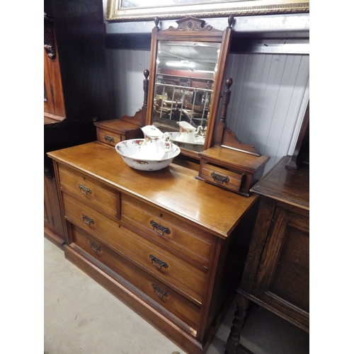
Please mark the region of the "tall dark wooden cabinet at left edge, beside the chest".
POLYGON ((57 185, 47 152, 96 140, 93 120, 108 112, 103 4, 45 0, 44 229, 64 244, 57 185))

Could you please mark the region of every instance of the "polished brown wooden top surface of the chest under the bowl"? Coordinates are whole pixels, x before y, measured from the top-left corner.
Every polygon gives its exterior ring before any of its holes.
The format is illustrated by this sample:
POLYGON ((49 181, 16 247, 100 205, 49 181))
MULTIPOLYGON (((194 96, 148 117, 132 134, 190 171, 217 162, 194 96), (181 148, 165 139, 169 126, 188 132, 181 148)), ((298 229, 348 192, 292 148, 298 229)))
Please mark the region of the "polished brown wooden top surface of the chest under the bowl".
POLYGON ((182 166, 173 162, 160 171, 132 169, 114 149, 98 142, 47 154, 121 192, 181 215, 222 239, 231 234, 258 198, 255 193, 244 197, 198 180, 198 168, 191 163, 182 166))

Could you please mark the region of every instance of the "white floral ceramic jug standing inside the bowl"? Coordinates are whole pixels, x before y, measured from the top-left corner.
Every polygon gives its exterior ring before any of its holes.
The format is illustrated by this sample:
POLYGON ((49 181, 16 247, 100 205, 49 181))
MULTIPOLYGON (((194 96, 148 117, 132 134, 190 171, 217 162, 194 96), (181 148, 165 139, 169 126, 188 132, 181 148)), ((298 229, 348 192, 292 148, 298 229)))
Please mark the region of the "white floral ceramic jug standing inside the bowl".
POLYGON ((144 142, 140 147, 141 158, 161 160, 171 150, 170 134, 161 132, 154 125, 145 125, 141 129, 144 133, 144 142))

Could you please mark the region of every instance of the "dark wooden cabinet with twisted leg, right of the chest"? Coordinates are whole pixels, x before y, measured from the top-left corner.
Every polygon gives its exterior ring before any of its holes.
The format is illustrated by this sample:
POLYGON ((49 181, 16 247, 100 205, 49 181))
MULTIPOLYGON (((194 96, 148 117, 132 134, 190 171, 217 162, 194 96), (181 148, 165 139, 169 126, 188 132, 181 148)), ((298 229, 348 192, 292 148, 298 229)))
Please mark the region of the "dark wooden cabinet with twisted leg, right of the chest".
POLYGON ((291 160, 284 156, 251 188, 261 202, 227 354, 250 353, 239 344, 250 301, 309 331, 309 164, 290 169, 291 160))

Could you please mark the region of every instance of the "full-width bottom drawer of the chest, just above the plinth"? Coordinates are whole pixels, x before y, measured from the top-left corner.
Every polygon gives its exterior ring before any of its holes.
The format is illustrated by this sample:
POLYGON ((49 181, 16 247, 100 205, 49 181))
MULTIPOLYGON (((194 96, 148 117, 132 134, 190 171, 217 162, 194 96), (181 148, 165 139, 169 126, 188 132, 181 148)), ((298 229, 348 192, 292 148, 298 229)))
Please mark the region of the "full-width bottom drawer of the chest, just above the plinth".
MULTIPOLYGON (((101 261, 101 263, 127 280, 127 282, 130 282, 130 284, 134 285, 138 290, 144 292, 144 300, 153 305, 155 303, 159 304, 161 307, 171 312, 171 314, 177 316, 178 319, 187 324, 193 331, 197 331, 200 322, 200 309, 195 306, 195 304, 189 302, 152 275, 138 268, 135 264, 127 261, 127 259, 120 256, 120 254, 106 247, 98 239, 89 236, 89 234, 86 234, 86 232, 75 227, 73 224, 71 224, 70 228, 70 234, 74 244, 98 261, 101 261)), ((129 284, 125 283, 125 285, 130 287, 129 284)), ((132 287, 130 288, 132 289, 132 287)))

